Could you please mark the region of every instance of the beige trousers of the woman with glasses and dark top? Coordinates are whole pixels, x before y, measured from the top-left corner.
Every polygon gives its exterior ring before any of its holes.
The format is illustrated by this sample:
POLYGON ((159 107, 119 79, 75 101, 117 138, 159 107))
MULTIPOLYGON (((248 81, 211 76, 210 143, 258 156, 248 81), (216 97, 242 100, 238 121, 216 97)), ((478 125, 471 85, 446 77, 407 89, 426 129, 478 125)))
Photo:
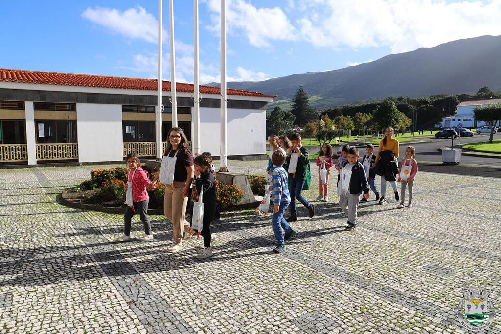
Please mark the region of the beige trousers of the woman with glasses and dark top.
POLYGON ((176 244, 182 242, 183 230, 189 231, 191 228, 184 218, 188 198, 183 197, 181 190, 185 182, 173 182, 174 189, 170 185, 165 186, 165 196, 163 198, 163 211, 165 217, 172 223, 172 240, 176 244))

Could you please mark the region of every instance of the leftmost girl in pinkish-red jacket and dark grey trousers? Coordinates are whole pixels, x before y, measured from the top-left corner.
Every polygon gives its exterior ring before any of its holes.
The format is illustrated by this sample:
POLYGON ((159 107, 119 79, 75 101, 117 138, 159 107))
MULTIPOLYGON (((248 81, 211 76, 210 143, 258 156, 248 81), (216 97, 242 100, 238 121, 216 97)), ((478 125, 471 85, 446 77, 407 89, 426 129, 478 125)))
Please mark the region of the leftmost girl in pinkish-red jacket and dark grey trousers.
POLYGON ((137 153, 127 154, 125 160, 129 168, 127 184, 124 185, 127 207, 124 214, 124 235, 118 237, 117 241, 130 240, 130 227, 134 213, 139 213, 144 225, 144 236, 139 238, 139 241, 148 241, 153 239, 153 234, 151 233, 150 219, 148 218, 148 202, 150 198, 146 189, 153 190, 155 185, 148 179, 148 173, 139 167, 141 160, 139 160, 137 153))

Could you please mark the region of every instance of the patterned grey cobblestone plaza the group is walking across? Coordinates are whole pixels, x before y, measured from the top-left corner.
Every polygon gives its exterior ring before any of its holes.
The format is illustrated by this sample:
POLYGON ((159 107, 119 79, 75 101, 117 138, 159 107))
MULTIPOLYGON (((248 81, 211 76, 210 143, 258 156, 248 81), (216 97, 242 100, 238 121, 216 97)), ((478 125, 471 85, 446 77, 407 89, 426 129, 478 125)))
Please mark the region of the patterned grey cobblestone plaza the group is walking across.
MULTIPOLYGON (((245 173, 265 166, 229 161, 245 173)), ((501 179, 419 173, 414 208, 372 197, 349 232, 331 194, 314 219, 299 209, 280 255, 270 217, 222 213, 215 255, 197 260, 200 240, 166 254, 162 216, 150 216, 153 241, 118 244, 122 215, 59 205, 93 168, 0 172, 0 332, 458 333, 465 284, 493 289, 501 306, 501 179)), ((487 332, 501 333, 494 319, 487 332)))

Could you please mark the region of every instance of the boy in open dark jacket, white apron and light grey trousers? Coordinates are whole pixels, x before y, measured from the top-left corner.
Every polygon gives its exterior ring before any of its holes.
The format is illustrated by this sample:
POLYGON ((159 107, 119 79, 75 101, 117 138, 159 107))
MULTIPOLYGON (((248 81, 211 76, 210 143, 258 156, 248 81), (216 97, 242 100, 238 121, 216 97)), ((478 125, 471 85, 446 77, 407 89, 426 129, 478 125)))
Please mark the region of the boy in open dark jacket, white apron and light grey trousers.
POLYGON ((358 161, 358 157, 358 148, 350 147, 348 163, 344 166, 341 174, 343 190, 339 197, 339 206, 348 216, 348 226, 345 228, 348 231, 357 227, 357 207, 360 194, 363 191, 366 200, 370 196, 364 166, 358 161))

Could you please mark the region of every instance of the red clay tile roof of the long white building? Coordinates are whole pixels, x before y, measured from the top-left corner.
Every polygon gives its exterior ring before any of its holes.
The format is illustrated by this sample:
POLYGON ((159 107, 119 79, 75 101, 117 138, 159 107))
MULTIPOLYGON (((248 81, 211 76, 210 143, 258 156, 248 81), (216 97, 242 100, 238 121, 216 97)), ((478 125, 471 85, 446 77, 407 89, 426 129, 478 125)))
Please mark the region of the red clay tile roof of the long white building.
MULTIPOLYGON (((156 79, 136 79, 136 78, 121 78, 121 77, 106 77, 99 75, 86 74, 68 74, 55 72, 40 72, 13 70, 8 68, 0 68, 0 81, 22 82, 35 84, 49 85, 65 85, 65 86, 88 86, 88 87, 104 87, 104 88, 122 88, 122 89, 137 89, 137 90, 156 90, 156 79)), ((217 94, 219 95, 219 87, 200 85, 200 93, 217 94)), ((162 90, 170 91, 170 81, 162 81, 162 90)), ((177 83, 177 92, 193 92, 193 85, 187 83, 177 83)), ((259 92, 250 92, 239 89, 226 89, 228 95, 240 96, 255 96, 255 97, 270 97, 276 96, 264 95, 259 92)))

